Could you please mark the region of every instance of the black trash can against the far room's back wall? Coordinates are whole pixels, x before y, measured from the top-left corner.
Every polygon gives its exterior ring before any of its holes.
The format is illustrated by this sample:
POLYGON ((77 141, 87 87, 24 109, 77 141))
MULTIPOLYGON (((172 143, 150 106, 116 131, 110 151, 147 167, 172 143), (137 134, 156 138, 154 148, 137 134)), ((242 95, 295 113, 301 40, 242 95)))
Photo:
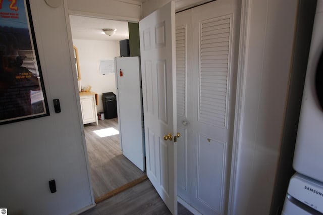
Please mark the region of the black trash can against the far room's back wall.
POLYGON ((117 96, 113 92, 102 93, 104 119, 113 119, 117 114, 117 96))

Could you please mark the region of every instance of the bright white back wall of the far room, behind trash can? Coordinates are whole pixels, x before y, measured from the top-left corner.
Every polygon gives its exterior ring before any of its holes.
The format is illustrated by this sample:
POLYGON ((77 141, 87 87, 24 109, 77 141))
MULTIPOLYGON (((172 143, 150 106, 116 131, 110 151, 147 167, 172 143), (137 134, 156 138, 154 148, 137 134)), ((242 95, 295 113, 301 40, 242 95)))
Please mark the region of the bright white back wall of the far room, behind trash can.
POLYGON ((90 85, 91 91, 98 94, 97 112, 102 112, 102 93, 116 94, 116 78, 115 73, 101 75, 99 61, 119 57, 119 41, 73 39, 73 44, 79 52, 81 86, 90 85))

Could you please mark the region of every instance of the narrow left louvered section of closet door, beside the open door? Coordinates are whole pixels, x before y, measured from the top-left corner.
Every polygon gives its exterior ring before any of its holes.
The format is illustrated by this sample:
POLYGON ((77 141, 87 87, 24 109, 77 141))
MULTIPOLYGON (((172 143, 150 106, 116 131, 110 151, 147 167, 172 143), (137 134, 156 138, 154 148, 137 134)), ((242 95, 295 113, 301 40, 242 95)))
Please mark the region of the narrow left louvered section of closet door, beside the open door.
POLYGON ((186 117, 186 27, 176 29, 177 115, 186 117))

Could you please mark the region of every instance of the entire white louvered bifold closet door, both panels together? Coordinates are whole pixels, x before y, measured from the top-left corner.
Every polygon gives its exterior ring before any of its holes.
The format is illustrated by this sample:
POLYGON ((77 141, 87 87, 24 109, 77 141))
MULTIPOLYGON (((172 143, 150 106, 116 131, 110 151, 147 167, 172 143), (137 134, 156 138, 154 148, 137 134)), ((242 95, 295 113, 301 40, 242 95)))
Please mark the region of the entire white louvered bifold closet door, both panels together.
POLYGON ((178 199, 201 214, 227 213, 237 2, 217 0, 176 14, 178 199))

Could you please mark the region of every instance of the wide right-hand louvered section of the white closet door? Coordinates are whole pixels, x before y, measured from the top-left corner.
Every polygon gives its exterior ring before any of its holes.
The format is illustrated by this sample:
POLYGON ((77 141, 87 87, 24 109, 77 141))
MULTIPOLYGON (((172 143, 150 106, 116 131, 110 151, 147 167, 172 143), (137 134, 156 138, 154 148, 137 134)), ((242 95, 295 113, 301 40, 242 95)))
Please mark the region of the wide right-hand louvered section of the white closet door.
POLYGON ((199 121, 226 127, 230 17, 201 23, 199 121))

